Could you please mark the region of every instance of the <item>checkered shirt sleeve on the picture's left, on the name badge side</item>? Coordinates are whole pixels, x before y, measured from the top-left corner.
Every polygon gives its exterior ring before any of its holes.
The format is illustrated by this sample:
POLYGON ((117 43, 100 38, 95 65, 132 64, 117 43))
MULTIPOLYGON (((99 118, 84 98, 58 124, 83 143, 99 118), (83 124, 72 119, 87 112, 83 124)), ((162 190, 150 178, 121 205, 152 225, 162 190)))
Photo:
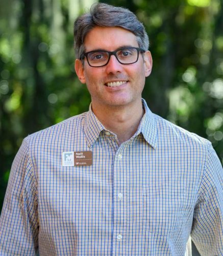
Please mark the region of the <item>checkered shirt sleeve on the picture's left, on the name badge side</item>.
POLYGON ((0 255, 36 255, 37 182, 26 139, 13 161, 0 218, 0 255))

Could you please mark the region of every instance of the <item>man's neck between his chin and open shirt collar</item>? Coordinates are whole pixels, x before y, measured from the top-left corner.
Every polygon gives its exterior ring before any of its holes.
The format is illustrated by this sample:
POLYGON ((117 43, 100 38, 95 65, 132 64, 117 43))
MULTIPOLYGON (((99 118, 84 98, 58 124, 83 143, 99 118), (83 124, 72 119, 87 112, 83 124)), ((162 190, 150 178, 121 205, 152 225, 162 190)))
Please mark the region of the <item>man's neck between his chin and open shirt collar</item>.
POLYGON ((105 128, 117 135, 119 144, 129 140, 137 131, 144 114, 142 102, 127 106, 103 106, 92 102, 92 111, 105 128))

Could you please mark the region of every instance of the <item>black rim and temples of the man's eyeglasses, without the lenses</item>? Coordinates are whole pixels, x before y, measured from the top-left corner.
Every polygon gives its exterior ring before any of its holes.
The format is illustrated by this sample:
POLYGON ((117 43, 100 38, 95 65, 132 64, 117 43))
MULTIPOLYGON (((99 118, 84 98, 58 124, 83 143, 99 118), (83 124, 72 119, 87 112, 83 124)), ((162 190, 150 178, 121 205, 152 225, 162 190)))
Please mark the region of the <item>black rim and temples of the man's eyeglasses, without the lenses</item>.
POLYGON ((80 60, 83 60, 84 57, 86 57, 87 62, 88 62, 88 65, 89 65, 90 67, 92 67, 92 68, 101 68, 101 67, 106 66, 106 65, 108 64, 110 58, 111 58, 111 55, 114 55, 115 58, 117 59, 117 61, 118 61, 119 63, 121 63, 122 65, 130 65, 130 64, 136 63, 136 62, 138 61, 138 59, 139 59, 139 52, 140 52, 140 53, 145 53, 145 50, 142 49, 142 48, 139 48, 139 47, 121 47, 121 48, 118 48, 117 50, 112 51, 112 52, 106 51, 106 50, 94 50, 94 51, 82 53, 81 56, 80 56, 80 60), (136 61, 131 62, 131 63, 122 63, 122 62, 118 59, 118 57, 116 56, 116 53, 117 53, 118 51, 125 50, 125 49, 136 49, 136 50, 137 50, 137 59, 136 59, 136 61), (92 66, 92 65, 90 65, 87 56, 88 56, 89 53, 94 53, 94 52, 106 52, 106 53, 108 53, 108 61, 107 61, 104 65, 101 65, 101 66, 92 66))

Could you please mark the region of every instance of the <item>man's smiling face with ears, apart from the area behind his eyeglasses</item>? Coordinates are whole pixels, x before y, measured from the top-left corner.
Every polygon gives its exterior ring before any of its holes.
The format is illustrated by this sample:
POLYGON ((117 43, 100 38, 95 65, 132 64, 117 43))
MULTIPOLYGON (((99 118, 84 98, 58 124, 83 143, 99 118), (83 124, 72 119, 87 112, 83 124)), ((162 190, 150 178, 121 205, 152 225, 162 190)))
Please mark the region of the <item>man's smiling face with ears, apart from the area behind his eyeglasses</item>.
MULTIPOLYGON (((86 52, 94 50, 115 51, 121 47, 139 47, 136 36, 119 27, 95 27, 85 37, 86 52)), ((82 83, 87 84, 92 108, 127 106, 141 102, 145 77, 150 75, 152 58, 150 52, 139 53, 138 61, 123 65, 111 55, 104 67, 90 67, 84 60, 76 60, 76 73, 82 83), (111 86, 111 83, 112 86, 111 86)))

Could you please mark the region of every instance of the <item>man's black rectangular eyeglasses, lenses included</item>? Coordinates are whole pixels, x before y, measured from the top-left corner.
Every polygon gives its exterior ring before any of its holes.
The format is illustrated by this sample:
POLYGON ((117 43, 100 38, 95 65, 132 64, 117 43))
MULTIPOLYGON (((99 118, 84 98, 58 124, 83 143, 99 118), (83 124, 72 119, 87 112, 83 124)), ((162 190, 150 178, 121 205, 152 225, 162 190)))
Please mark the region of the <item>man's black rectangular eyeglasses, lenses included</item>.
POLYGON ((144 53, 145 50, 137 47, 123 47, 113 52, 96 50, 83 53, 80 59, 82 60, 86 57, 91 67, 103 67, 108 64, 111 55, 115 55, 118 62, 128 65, 138 61, 139 52, 144 53))

